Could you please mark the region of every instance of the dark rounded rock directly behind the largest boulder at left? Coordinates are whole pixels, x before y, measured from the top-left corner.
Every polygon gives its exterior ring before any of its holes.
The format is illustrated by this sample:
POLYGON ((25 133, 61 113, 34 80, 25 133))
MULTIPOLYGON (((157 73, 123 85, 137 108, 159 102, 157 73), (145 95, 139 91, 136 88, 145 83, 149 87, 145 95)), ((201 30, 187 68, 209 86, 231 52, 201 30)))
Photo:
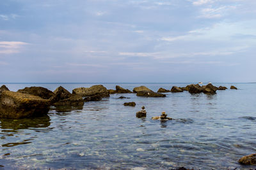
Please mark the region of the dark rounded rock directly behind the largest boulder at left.
POLYGON ((17 92, 39 96, 43 99, 50 99, 50 97, 54 95, 51 90, 45 89, 44 87, 25 87, 24 89, 20 89, 17 92))

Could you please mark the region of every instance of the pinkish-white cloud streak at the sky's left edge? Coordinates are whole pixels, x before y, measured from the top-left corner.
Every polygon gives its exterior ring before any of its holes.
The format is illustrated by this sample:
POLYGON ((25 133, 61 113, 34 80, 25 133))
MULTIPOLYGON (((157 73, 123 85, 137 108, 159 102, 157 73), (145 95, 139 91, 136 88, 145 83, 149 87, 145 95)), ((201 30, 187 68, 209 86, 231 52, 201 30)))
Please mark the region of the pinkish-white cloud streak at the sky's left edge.
POLYGON ((19 53, 22 46, 28 43, 20 41, 0 41, 0 53, 19 53))

